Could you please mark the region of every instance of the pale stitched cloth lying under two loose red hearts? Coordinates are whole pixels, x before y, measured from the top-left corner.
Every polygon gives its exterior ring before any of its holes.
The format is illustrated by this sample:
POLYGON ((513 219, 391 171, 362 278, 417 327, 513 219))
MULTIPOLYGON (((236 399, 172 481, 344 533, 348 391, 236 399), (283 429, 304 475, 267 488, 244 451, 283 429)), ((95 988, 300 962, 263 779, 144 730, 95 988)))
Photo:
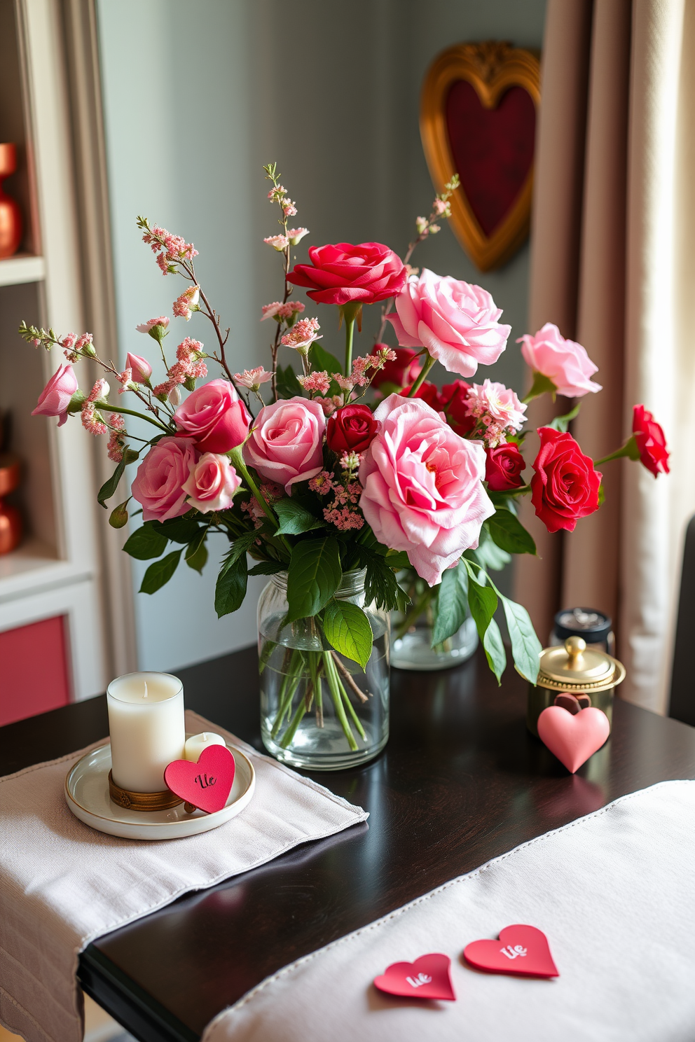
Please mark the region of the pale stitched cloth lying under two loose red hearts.
POLYGON ((624 796, 286 967, 202 1042, 692 1042, 694 853, 694 782, 624 796), (560 977, 462 961, 514 923, 546 934, 560 977), (450 957, 456 1001, 374 988, 428 952, 450 957))

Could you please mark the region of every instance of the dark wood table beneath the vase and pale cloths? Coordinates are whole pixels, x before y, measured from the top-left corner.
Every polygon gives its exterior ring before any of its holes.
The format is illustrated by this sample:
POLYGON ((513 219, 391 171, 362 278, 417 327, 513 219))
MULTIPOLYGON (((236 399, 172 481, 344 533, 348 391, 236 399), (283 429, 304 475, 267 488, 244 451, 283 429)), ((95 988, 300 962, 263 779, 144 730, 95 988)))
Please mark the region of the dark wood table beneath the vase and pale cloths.
MULTIPOLYGON (((185 702, 262 748, 255 649, 180 670, 185 702)), ((613 736, 570 775, 524 726, 525 684, 479 655, 392 673, 391 740, 356 770, 313 775, 368 824, 116 931, 82 953, 84 991, 143 1042, 193 1042, 269 973, 512 847, 628 792, 695 777, 695 728, 617 701, 613 736)), ((107 734, 105 698, 0 728, 0 771, 107 734)))

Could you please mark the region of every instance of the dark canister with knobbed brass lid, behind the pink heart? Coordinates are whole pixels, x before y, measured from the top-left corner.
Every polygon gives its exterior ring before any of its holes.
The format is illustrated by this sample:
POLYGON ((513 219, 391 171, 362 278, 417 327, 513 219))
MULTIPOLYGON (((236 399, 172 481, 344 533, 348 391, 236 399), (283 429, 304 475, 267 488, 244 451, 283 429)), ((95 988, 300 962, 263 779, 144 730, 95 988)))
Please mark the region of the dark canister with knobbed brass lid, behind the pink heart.
POLYGON ((581 637, 568 637, 564 647, 546 648, 536 686, 528 686, 526 726, 538 737, 538 718, 548 705, 573 712, 595 705, 613 726, 613 691, 625 679, 625 667, 597 648, 588 648, 581 637))

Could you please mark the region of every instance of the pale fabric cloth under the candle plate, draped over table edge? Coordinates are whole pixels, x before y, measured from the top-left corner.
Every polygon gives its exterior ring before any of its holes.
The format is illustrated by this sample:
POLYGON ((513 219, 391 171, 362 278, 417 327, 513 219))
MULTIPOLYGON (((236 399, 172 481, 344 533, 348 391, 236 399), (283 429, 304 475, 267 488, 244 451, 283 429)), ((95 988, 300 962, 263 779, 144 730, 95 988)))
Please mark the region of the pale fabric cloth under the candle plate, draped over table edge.
POLYGON ((246 810, 200 836, 139 842, 78 821, 64 786, 86 749, 0 777, 0 1022, 26 1042, 81 1042, 77 960, 97 937, 368 817, 195 713, 185 723, 223 735, 256 772, 246 810))

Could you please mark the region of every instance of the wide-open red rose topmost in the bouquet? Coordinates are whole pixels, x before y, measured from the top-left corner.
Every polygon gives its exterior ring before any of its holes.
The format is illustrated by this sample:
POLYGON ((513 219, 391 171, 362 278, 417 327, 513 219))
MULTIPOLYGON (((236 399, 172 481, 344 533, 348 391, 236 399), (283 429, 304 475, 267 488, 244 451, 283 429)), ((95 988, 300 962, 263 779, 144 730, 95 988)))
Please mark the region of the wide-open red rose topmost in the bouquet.
POLYGON ((295 265, 288 281, 306 287, 320 304, 373 304, 395 297, 405 284, 403 262, 381 243, 312 246, 308 255, 312 264, 295 265))

